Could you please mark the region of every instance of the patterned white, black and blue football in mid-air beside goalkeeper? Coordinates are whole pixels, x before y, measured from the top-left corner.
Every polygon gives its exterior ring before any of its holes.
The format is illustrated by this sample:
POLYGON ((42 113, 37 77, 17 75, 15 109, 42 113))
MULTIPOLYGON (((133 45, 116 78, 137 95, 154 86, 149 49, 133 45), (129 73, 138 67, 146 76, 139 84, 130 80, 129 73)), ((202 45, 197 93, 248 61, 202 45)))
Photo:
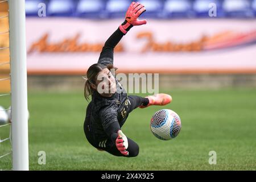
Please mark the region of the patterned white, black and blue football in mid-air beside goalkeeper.
POLYGON ((180 117, 173 110, 159 110, 151 118, 150 129, 158 139, 173 139, 177 137, 181 130, 180 117))

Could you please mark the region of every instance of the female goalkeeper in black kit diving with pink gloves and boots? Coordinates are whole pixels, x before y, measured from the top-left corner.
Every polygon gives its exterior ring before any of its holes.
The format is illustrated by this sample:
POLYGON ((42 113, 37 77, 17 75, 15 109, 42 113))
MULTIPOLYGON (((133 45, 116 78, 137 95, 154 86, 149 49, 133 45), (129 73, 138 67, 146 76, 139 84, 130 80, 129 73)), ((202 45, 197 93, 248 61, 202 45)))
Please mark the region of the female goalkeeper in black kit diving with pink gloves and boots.
POLYGON ((104 150, 115 156, 134 157, 139 154, 139 146, 122 133, 121 127, 129 113, 137 107, 150 105, 166 105, 172 101, 167 94, 138 97, 127 96, 126 91, 114 78, 114 47, 133 26, 146 24, 146 20, 138 17, 146 9, 140 3, 131 3, 126 13, 125 22, 110 36, 102 48, 97 64, 90 66, 86 73, 84 95, 92 101, 86 109, 84 133, 89 143, 98 150, 104 150))

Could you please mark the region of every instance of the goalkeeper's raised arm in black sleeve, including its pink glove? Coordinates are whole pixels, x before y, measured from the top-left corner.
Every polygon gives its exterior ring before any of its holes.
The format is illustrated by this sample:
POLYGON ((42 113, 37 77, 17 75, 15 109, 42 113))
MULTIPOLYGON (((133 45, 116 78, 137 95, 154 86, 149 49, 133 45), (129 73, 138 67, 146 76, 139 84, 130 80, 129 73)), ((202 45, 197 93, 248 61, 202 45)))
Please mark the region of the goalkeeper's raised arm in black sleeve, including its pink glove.
POLYGON ((141 3, 132 2, 129 6, 125 21, 118 27, 118 29, 109 37, 102 48, 98 64, 108 65, 113 64, 114 59, 114 47, 117 46, 122 39, 133 26, 139 26, 146 24, 146 20, 139 20, 139 16, 146 11, 145 7, 141 3))

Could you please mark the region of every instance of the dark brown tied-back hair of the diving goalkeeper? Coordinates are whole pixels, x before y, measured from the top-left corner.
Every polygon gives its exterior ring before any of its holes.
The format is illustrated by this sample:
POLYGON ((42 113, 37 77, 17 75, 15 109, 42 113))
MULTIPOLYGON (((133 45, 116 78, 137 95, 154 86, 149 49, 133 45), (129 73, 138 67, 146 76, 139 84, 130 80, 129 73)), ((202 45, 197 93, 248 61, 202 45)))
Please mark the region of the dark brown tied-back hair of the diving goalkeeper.
POLYGON ((86 101, 89 101, 89 96, 93 93, 93 88, 90 84, 96 84, 96 76, 105 68, 108 68, 109 71, 110 69, 117 69, 113 67, 113 64, 103 65, 96 63, 91 65, 88 71, 86 72, 86 81, 84 85, 84 97, 86 101))

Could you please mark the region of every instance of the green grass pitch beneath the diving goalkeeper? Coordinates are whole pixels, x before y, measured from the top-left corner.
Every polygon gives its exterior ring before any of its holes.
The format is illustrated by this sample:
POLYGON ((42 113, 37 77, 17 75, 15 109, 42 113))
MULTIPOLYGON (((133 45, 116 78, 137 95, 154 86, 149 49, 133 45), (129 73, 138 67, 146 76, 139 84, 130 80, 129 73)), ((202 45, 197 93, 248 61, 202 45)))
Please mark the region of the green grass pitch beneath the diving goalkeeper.
MULTIPOLYGON (((122 127, 140 147, 139 155, 129 159, 87 142, 82 92, 29 92, 30 170, 256 169, 256 89, 166 93, 173 97, 170 105, 135 109, 122 127), (159 140, 150 131, 150 119, 160 109, 172 109, 181 118, 181 132, 173 140, 159 140), (46 152, 45 165, 38 164, 39 151, 46 152), (217 164, 209 164, 210 151, 216 151, 217 164)), ((9 99, 1 98, 0 105, 9 107, 9 99)), ((0 128, 1 138, 8 135, 9 127, 0 128)), ((2 143, 0 155, 8 150, 10 143, 2 143)), ((10 155, 0 159, 0 169, 11 169, 10 155)))

